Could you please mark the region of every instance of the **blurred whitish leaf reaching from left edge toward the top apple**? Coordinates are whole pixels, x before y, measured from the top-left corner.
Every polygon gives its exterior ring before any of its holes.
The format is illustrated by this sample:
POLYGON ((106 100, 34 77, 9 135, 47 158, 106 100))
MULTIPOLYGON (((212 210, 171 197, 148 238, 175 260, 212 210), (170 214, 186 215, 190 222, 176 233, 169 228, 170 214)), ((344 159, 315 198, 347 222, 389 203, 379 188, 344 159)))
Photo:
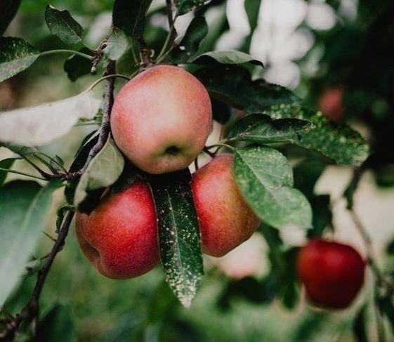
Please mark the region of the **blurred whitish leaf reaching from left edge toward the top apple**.
POLYGON ((65 136, 79 119, 93 119, 100 107, 93 92, 35 107, 0 112, 0 142, 39 146, 65 136))

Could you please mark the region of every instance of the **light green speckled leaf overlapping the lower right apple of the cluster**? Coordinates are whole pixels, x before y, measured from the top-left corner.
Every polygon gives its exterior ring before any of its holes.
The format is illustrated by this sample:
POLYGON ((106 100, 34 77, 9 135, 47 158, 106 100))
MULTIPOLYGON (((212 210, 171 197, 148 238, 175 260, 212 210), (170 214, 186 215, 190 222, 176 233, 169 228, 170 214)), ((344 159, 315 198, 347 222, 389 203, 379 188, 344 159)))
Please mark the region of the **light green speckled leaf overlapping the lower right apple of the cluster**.
POLYGON ((234 164, 239 190, 263 223, 310 228, 310 204, 292 188, 293 173, 283 154, 267 146, 243 147, 235 150, 234 164))

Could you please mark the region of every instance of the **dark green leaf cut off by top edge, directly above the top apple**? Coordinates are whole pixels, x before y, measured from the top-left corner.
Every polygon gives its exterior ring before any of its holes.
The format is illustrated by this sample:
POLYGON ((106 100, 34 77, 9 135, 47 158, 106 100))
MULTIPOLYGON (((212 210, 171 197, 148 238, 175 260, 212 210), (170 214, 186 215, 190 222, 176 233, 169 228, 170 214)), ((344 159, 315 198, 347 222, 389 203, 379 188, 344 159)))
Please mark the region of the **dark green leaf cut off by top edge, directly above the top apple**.
POLYGON ((114 27, 131 38, 143 35, 146 25, 146 13, 152 0, 115 0, 112 11, 114 27))

